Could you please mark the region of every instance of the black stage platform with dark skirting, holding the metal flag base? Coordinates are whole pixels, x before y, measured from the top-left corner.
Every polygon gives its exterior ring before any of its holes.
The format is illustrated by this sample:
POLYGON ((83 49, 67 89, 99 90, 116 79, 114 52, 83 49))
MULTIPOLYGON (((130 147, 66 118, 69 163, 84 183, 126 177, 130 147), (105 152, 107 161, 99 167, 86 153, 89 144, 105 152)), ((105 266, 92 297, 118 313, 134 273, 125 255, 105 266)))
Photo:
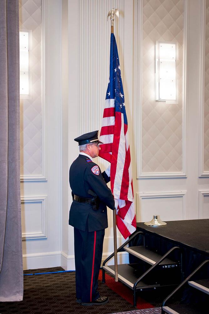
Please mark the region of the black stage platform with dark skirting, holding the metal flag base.
MULTIPOLYGON (((164 255, 172 247, 179 246, 182 252, 182 274, 186 278, 202 262, 209 259, 209 219, 166 221, 167 225, 148 227, 143 222, 137 223, 137 230, 144 233, 145 247, 164 255)), ((129 246, 143 245, 143 237, 133 239, 129 246)), ((180 253, 168 256, 180 261, 180 253)), ((129 254, 129 263, 139 263, 137 257, 129 254)), ((195 279, 209 278, 209 269, 202 269, 195 279)), ((184 299, 187 299, 187 293, 184 299)), ((191 298, 191 296, 190 296, 191 298)))

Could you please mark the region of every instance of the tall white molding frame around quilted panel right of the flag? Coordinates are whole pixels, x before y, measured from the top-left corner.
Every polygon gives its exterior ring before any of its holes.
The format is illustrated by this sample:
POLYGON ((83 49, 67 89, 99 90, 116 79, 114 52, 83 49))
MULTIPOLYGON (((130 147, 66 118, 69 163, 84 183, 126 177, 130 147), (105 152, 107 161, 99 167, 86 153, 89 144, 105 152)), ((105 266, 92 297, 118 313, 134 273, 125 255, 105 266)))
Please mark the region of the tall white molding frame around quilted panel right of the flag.
POLYGON ((184 52, 183 52, 183 104, 182 104, 182 172, 143 172, 142 171, 142 56, 143 56, 143 0, 138 1, 138 45, 135 62, 137 62, 137 101, 134 102, 137 112, 137 179, 187 177, 187 94, 188 94, 188 24, 189 5, 184 0, 184 52))

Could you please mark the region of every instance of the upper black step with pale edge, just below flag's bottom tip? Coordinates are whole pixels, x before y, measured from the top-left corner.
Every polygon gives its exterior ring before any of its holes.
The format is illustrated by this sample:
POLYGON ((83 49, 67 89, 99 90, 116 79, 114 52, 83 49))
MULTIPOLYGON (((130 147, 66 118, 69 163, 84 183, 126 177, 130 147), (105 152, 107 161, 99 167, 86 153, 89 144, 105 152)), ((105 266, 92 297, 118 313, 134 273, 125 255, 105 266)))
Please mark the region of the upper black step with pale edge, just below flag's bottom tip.
MULTIPOLYGON (((146 249, 146 247, 144 246, 130 246, 130 247, 125 246, 124 250, 140 258, 144 262, 149 263, 150 265, 154 265, 163 256, 156 252, 146 249)), ((159 265, 164 266, 165 268, 173 268, 173 267, 177 267, 179 263, 176 263, 170 260, 169 258, 165 258, 159 265)))

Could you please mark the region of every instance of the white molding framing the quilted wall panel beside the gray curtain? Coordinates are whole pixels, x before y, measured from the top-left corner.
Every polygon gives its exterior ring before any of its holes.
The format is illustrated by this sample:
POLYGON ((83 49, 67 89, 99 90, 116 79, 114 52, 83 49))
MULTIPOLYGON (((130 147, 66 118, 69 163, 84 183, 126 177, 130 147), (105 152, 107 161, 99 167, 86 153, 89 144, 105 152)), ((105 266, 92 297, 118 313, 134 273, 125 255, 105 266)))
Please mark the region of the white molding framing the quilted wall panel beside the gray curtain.
POLYGON ((47 165, 48 165, 48 149, 47 149, 47 139, 48 139, 48 101, 47 101, 47 7, 49 0, 42 0, 42 87, 41 87, 41 113, 42 113, 42 139, 41 139, 41 174, 39 175, 21 175, 20 181, 47 181, 47 165))

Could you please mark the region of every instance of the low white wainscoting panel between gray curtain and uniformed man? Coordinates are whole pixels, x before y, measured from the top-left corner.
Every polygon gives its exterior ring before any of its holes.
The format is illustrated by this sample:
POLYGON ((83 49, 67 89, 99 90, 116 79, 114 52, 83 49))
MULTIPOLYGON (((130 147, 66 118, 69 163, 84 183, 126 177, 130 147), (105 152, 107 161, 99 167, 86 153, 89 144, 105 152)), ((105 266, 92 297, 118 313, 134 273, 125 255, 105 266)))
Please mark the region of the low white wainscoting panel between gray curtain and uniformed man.
POLYGON ((21 197, 22 239, 47 238, 47 197, 21 197))

